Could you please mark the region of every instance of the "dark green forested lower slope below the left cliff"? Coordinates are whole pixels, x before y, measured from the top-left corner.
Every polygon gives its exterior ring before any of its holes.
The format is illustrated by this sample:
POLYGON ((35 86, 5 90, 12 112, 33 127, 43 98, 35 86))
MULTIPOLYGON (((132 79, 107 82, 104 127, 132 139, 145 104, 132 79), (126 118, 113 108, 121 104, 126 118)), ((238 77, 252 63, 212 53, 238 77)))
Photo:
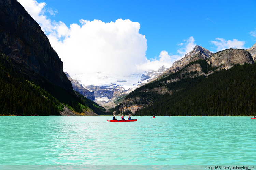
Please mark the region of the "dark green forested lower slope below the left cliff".
POLYGON ((78 93, 70 94, 51 82, 42 82, 21 74, 7 56, 0 54, 0 115, 59 115, 62 104, 80 113, 88 107, 99 115, 105 112, 78 93))

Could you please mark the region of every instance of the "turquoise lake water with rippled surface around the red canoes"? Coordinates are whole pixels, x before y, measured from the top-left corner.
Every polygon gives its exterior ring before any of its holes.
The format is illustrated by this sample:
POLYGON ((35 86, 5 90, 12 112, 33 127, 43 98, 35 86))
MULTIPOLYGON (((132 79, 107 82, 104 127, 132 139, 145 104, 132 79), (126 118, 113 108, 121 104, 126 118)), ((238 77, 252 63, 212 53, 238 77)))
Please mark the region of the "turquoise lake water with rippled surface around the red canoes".
POLYGON ((256 119, 132 118, 1 116, 0 165, 256 164, 256 119))

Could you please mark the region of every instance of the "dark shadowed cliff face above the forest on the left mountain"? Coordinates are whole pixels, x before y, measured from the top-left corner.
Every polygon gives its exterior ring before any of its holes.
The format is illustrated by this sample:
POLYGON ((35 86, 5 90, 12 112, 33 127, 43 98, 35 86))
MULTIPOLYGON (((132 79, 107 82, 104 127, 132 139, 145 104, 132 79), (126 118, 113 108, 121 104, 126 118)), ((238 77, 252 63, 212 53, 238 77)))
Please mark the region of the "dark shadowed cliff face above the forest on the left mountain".
POLYGON ((37 22, 16 0, 0 1, 0 52, 33 80, 50 81, 73 92, 63 62, 37 22))

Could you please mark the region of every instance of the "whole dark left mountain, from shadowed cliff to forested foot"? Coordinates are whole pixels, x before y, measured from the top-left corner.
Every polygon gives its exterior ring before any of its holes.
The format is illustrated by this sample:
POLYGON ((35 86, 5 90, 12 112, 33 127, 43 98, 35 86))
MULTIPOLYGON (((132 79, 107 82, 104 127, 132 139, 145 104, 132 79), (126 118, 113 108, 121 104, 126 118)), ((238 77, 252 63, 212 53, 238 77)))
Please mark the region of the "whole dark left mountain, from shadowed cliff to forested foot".
POLYGON ((16 0, 0 1, 0 115, 99 115, 76 93, 41 27, 16 0))

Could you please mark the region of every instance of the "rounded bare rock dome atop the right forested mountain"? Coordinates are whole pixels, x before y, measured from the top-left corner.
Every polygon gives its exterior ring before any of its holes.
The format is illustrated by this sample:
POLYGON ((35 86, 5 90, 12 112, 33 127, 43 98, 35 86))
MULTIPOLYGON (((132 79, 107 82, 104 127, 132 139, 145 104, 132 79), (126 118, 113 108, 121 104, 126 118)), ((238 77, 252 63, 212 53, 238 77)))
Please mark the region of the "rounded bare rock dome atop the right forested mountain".
POLYGON ((229 69, 233 64, 253 64, 251 54, 242 49, 227 49, 215 53, 207 59, 207 63, 212 67, 219 67, 218 69, 229 69))

